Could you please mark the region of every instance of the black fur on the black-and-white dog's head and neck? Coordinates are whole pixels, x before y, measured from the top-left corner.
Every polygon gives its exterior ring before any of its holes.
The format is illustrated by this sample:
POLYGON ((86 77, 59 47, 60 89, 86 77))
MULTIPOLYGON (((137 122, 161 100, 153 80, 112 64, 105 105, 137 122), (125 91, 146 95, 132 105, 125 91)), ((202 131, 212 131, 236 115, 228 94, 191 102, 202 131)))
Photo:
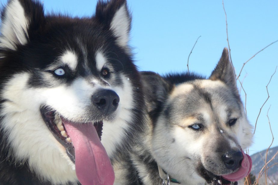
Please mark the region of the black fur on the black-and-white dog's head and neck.
MULTIPOLYGON (((12 0, 8 2, 11 4, 12 0)), ((32 77, 29 80, 29 87, 51 87, 51 83, 42 80, 40 71, 45 71, 47 66, 54 62, 66 49, 74 49, 79 61, 76 72, 65 69, 66 77, 57 77, 60 83, 70 85, 77 77, 100 75, 96 69, 94 58, 97 49, 101 47, 107 49, 107 57, 113 63, 114 72, 122 72, 130 78, 132 82, 132 93, 135 99, 134 110, 130 110, 132 121, 129 123, 132 130, 126 131, 126 137, 122 146, 118 146, 118 152, 131 148, 135 139, 145 128, 144 126, 144 99, 142 98, 143 88, 137 67, 133 63, 131 54, 124 48, 117 45, 117 37, 109 29, 110 23, 116 11, 122 5, 126 7, 125 0, 112 0, 111 2, 99 1, 96 14, 92 17, 68 17, 62 14, 45 15, 42 4, 39 1, 19 0, 23 6, 26 17, 30 23, 28 32, 25 33, 28 40, 26 45, 16 44, 16 50, 0 48, 0 54, 4 57, 0 59, 0 92, 3 91, 5 82, 14 74, 19 72, 29 72, 32 77), (82 45, 86 46, 89 68, 85 69, 83 63, 85 58, 79 43, 74 38, 78 38, 82 45), (120 62, 119 62, 120 61, 120 62), (132 132, 131 132, 132 131, 132 132)), ((6 8, 2 9, 2 21, 6 20, 6 8)), ((131 16, 130 20, 131 21, 131 16)), ((129 27, 130 29, 130 27, 129 27)), ((49 74, 54 75, 53 71, 49 74)), ((109 76, 107 77, 109 81, 109 76)), ((122 81, 111 81, 116 86, 121 86, 122 81)), ((0 106, 6 100, 0 94, 0 106)), ((1 110, 0 110, 1 111, 1 110)), ((1 117, 3 120, 5 118, 1 117)), ((113 123, 116 124, 116 123, 113 123)), ((19 161, 14 158, 14 151, 10 143, 7 142, 7 133, 1 128, 0 122, 0 184, 1 185, 30 185, 30 184, 52 184, 44 179, 39 179, 36 172, 29 168, 27 161, 19 161)), ((36 138, 34 138, 36 139, 36 138)), ((68 183, 70 184, 70 183, 68 183)))

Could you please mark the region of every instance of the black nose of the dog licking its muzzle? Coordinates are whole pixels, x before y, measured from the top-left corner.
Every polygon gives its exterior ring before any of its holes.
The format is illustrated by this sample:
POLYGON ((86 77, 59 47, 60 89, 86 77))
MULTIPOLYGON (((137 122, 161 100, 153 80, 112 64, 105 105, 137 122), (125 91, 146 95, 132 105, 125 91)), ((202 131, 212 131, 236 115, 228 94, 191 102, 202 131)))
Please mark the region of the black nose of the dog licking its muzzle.
POLYGON ((226 168, 236 170, 240 167, 243 156, 241 151, 229 151, 222 156, 226 168))

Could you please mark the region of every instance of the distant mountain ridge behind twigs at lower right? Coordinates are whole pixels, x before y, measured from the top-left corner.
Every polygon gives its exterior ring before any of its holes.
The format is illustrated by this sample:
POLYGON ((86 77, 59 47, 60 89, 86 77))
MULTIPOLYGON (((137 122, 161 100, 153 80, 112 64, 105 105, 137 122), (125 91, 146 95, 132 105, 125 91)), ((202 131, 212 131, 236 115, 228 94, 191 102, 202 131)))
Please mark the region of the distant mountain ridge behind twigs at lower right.
MULTIPOLYGON (((251 173, 253 175, 255 175, 256 178, 258 178, 258 175, 259 175, 261 169, 264 167, 266 151, 267 150, 262 150, 260 152, 257 152, 255 154, 251 155, 251 158, 252 158, 251 173)), ((278 146, 275 146, 268 150, 267 162, 276 154, 277 151, 278 151, 278 146)), ((273 165, 267 170, 267 175, 269 177, 269 179, 267 181, 268 181, 268 183, 270 183, 270 184, 274 183, 275 185, 278 184, 278 164, 276 164, 276 163, 278 163, 278 155, 276 155, 275 158, 270 163, 267 164, 268 167, 273 165)), ((261 174, 263 174, 263 175, 260 178, 260 181, 259 181, 259 182, 261 182, 260 184, 265 184, 265 174, 263 172, 264 172, 264 169, 261 172, 261 174)))

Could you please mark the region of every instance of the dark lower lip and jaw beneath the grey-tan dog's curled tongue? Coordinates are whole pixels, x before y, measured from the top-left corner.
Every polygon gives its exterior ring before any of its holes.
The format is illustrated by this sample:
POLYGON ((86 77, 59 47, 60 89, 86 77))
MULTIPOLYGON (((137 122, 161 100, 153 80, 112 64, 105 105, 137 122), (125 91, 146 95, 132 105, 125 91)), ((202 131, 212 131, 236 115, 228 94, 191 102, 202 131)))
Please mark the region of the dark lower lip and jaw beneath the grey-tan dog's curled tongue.
POLYGON ((238 182, 231 182, 229 180, 224 179, 222 176, 215 175, 212 172, 205 169, 204 166, 201 165, 198 169, 199 175, 205 179, 205 181, 210 185, 237 185, 238 182))

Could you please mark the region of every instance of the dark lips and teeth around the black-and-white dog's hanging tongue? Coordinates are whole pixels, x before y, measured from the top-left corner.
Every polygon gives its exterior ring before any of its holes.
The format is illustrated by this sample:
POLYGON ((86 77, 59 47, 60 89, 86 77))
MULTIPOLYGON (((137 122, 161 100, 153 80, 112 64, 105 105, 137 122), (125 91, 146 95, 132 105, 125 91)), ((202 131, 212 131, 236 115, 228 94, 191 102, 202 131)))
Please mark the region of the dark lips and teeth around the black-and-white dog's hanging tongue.
MULTIPOLYGON (((66 154, 69 156, 69 159, 75 163, 75 149, 72 144, 71 138, 68 136, 66 128, 63 125, 63 122, 68 121, 68 119, 60 116, 60 114, 56 111, 51 109, 48 106, 41 106, 40 112, 42 114, 42 118, 45 121, 46 126, 49 128, 55 139, 66 149, 66 154)), ((114 118, 108 118, 108 120, 113 120, 114 118)), ((73 124, 94 124, 94 128, 97 131, 98 137, 101 140, 102 136, 102 128, 103 128, 103 121, 96 121, 96 122, 72 122, 73 124)))

